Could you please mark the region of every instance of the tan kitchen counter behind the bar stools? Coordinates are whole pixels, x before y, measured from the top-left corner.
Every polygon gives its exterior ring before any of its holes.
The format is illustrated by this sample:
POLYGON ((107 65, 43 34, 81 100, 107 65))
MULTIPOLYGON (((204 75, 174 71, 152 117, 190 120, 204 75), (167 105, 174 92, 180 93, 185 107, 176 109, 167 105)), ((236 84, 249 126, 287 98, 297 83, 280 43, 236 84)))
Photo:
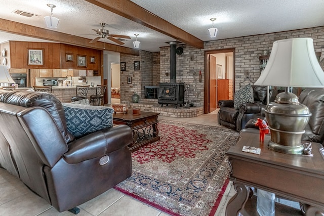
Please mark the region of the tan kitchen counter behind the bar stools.
MULTIPOLYGON (((96 95, 97 87, 89 87, 87 98, 90 101, 91 95, 96 95)), ((16 90, 29 90, 33 88, 18 88, 16 90)), ((76 96, 76 85, 72 87, 53 87, 52 94, 55 95, 61 102, 69 103, 71 98, 76 96)))

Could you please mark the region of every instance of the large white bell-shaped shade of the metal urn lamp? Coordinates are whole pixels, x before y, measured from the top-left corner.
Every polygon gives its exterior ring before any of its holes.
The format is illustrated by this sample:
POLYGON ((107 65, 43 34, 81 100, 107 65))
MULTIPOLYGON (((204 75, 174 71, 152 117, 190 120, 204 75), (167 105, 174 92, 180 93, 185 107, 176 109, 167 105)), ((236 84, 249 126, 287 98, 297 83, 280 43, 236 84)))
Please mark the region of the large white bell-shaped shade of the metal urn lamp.
POLYGON ((312 38, 274 41, 269 61, 255 85, 324 88, 324 72, 312 38))

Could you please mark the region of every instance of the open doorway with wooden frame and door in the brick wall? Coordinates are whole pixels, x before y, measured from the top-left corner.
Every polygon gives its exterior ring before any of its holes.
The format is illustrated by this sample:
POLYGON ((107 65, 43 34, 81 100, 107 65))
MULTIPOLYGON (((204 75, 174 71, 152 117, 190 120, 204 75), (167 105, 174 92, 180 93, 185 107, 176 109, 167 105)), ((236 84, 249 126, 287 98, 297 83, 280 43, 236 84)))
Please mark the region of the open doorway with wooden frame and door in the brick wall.
MULTIPOLYGON (((204 113, 215 113, 219 100, 232 100, 235 83, 235 49, 205 52, 204 113)), ((216 112, 217 113, 217 112, 216 112)))

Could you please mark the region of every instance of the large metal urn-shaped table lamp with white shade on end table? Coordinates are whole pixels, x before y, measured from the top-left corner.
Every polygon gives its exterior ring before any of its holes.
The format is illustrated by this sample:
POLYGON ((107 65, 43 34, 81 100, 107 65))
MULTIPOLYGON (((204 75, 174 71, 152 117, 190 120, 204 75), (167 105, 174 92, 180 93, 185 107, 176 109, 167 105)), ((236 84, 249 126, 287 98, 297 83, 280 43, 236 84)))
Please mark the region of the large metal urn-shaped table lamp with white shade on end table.
POLYGON ((315 55, 312 38, 291 38, 273 43, 268 64, 255 85, 286 87, 265 108, 271 140, 268 148, 286 154, 303 154, 301 137, 311 113, 299 103, 291 87, 324 88, 324 72, 315 55))

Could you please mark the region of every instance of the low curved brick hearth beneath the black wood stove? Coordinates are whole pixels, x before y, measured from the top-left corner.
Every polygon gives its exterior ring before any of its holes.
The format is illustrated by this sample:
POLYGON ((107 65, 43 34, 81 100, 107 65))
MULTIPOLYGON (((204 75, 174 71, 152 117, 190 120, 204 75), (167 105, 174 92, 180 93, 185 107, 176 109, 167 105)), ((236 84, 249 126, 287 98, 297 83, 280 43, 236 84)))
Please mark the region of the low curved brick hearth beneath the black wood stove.
POLYGON ((144 112, 157 112, 160 113, 161 116, 168 117, 191 118, 204 114, 204 107, 188 107, 188 109, 180 106, 175 108, 174 105, 164 105, 161 107, 161 105, 157 103, 157 99, 140 99, 139 103, 125 101, 121 103, 127 104, 131 109, 137 108, 144 112))

